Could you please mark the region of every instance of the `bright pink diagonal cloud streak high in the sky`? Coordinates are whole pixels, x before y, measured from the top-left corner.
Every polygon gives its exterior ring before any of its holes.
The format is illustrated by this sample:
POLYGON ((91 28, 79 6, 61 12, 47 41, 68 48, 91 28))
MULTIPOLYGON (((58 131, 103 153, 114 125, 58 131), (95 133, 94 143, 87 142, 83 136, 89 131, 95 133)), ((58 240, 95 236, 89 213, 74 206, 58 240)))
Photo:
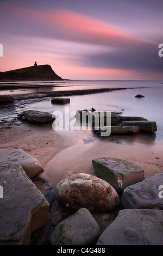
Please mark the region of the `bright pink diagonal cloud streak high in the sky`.
POLYGON ((39 19, 48 25, 54 38, 131 49, 149 44, 149 41, 129 35, 109 23, 65 9, 38 11, 16 7, 11 11, 29 19, 39 19))

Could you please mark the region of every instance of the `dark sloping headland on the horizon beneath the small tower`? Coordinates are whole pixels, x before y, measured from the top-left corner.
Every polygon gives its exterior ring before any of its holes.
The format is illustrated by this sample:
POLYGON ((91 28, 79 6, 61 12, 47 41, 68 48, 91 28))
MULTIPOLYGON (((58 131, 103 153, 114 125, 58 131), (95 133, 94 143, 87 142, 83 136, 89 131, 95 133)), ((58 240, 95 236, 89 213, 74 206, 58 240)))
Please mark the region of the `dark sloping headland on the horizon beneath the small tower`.
POLYGON ((27 68, 0 72, 0 81, 62 80, 50 65, 29 66, 27 68))

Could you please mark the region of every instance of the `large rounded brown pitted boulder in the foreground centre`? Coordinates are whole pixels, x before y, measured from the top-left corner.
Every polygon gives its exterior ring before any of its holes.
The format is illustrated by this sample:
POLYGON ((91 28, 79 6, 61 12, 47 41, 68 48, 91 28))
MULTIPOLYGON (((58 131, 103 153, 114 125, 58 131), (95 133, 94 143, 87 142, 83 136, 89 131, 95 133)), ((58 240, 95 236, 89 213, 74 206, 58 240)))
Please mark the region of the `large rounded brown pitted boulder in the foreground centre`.
POLYGON ((59 204, 77 211, 108 212, 117 208, 120 197, 112 186, 96 176, 78 173, 62 180, 55 187, 59 204))

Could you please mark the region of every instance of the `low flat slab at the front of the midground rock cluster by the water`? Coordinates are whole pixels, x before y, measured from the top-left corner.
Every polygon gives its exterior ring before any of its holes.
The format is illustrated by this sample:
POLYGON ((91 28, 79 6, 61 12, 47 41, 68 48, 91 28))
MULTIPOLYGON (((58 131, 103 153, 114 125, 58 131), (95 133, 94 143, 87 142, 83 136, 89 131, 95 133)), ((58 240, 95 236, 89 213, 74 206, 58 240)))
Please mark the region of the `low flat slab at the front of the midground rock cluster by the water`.
MULTIPOLYGON (((96 133, 106 132, 106 129, 109 129, 109 126, 104 127, 93 127, 93 131, 96 133)), ((135 134, 140 132, 140 128, 138 126, 119 126, 114 125, 110 126, 111 133, 110 134, 135 134)))

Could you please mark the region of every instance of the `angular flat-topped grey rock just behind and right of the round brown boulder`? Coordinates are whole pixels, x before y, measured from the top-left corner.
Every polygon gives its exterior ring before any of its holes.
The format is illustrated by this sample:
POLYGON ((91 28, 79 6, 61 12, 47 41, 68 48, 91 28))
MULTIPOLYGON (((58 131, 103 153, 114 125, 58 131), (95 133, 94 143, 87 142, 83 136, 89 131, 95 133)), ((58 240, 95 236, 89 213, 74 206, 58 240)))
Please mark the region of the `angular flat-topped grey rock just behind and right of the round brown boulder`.
POLYGON ((144 179, 143 169, 134 163, 112 157, 92 160, 97 176, 109 182, 117 192, 144 179))

